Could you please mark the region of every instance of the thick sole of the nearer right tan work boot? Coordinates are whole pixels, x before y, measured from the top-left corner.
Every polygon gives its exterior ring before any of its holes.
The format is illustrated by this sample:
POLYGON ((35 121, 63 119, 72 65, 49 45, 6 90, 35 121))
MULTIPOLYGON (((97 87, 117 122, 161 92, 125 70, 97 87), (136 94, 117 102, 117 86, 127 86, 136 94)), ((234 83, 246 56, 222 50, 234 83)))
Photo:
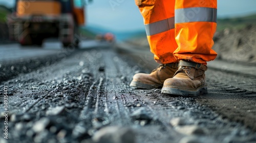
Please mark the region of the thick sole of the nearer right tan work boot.
POLYGON ((174 94, 177 96, 201 96, 207 94, 207 85, 200 86, 196 90, 183 90, 175 87, 163 87, 161 93, 174 94))

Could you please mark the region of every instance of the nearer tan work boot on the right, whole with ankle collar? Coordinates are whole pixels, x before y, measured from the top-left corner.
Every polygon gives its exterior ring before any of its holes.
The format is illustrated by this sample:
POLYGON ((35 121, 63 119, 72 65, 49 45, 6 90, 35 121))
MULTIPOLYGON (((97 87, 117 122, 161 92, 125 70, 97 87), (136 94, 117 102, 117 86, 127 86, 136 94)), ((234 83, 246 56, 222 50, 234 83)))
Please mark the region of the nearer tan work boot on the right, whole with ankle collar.
POLYGON ((179 96, 199 96, 207 93, 204 71, 207 66, 181 60, 173 78, 164 81, 162 93, 179 96))

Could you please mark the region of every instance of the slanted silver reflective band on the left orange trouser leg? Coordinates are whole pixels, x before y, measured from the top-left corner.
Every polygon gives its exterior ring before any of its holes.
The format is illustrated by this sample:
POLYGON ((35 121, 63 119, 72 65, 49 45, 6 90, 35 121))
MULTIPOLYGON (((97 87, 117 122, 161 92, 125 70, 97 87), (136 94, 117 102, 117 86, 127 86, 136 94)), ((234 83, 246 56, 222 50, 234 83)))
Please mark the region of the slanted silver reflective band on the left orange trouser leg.
POLYGON ((174 17, 145 25, 146 35, 151 36, 174 29, 174 17))

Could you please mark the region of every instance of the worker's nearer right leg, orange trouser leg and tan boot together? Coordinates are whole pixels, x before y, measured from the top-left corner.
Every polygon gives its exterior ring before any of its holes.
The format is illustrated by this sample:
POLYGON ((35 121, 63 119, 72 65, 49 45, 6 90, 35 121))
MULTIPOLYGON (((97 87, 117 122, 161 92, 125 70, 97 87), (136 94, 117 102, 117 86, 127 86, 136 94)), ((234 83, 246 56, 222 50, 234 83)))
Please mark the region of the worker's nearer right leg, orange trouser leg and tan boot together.
POLYGON ((174 56, 180 60, 172 79, 164 82, 162 93, 183 96, 207 93, 204 71, 206 62, 217 53, 211 49, 216 31, 217 0, 177 0, 175 30, 178 49, 174 56))

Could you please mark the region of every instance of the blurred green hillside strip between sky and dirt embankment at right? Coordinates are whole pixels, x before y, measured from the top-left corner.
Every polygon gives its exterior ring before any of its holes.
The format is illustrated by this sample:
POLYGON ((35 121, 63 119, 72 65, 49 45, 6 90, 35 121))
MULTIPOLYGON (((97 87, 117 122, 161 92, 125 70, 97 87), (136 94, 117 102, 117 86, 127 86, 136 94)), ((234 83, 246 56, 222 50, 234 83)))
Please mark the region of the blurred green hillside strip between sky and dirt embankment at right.
POLYGON ((217 19, 217 23, 217 31, 222 31, 225 28, 243 29, 248 25, 256 26, 256 14, 244 17, 217 19))

